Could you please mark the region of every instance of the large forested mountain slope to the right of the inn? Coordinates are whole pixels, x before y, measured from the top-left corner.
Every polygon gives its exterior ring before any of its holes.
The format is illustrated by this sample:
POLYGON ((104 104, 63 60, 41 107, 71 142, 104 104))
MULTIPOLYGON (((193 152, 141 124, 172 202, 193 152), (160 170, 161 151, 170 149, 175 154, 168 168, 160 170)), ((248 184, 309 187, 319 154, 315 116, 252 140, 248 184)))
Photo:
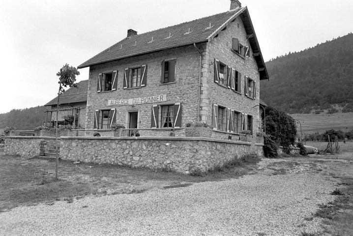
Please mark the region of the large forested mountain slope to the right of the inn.
POLYGON ((353 102, 353 34, 266 62, 261 98, 288 113, 353 102))

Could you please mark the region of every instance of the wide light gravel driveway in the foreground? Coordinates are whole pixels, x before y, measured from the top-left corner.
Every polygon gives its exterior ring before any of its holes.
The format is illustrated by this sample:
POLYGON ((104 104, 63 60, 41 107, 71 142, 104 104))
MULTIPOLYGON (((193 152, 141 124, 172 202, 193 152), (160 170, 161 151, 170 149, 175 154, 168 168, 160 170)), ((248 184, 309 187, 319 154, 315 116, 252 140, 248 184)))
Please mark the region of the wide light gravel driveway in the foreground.
POLYGON ((283 161, 288 160, 264 159, 258 171, 238 179, 14 208, 0 213, 0 235, 285 236, 320 231, 318 218, 304 218, 317 204, 334 199, 329 193, 337 179, 305 163, 273 175, 283 169, 283 161))

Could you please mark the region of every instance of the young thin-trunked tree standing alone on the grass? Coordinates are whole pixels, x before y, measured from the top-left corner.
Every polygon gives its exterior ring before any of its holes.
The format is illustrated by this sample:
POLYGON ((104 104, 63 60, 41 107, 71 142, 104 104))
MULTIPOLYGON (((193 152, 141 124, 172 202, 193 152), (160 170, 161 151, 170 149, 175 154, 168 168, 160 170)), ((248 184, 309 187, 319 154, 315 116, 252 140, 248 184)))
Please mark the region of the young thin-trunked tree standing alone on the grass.
POLYGON ((77 87, 76 82, 76 75, 79 75, 80 72, 73 66, 69 64, 65 64, 62 66, 60 71, 57 73, 59 76, 59 92, 58 92, 58 104, 57 104, 57 122, 56 122, 56 132, 55 132, 55 146, 56 146, 56 164, 55 164, 55 178, 58 179, 58 165, 59 165, 59 157, 58 157, 58 118, 59 118, 59 101, 60 101, 60 94, 65 91, 64 87, 77 87))

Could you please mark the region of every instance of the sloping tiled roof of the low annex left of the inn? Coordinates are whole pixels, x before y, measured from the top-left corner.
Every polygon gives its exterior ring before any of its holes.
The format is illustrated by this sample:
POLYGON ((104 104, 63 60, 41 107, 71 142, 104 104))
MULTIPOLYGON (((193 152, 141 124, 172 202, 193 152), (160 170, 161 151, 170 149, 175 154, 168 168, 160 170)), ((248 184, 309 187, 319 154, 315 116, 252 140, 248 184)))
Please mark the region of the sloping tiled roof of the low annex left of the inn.
MULTIPOLYGON (((67 89, 60 95, 60 104, 87 102, 88 80, 83 80, 77 83, 77 88, 67 89)), ((45 104, 44 106, 57 105, 58 96, 45 104)))

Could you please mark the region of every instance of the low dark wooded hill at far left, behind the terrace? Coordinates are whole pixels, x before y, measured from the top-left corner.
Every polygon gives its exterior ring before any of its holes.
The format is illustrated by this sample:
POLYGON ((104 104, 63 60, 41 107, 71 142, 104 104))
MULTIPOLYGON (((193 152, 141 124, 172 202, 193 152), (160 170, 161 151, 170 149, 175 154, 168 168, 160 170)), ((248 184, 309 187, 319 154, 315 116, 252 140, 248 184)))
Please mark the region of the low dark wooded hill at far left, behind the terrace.
POLYGON ((6 126, 16 127, 17 130, 33 130, 42 125, 46 118, 44 106, 26 109, 13 109, 8 113, 0 114, 0 128, 6 126))

